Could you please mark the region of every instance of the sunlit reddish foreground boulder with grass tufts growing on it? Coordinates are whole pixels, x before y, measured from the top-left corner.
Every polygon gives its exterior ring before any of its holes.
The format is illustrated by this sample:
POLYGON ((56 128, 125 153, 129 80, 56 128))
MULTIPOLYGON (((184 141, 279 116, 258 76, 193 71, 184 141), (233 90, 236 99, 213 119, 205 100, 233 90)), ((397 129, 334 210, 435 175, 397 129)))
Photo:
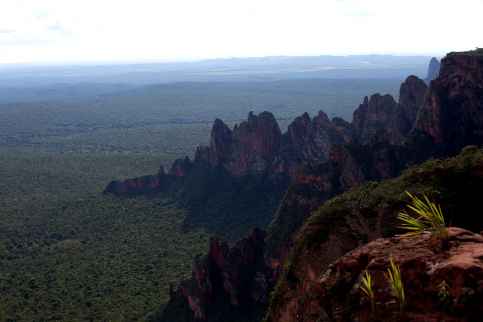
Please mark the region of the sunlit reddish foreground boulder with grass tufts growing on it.
POLYGON ((449 235, 450 249, 445 251, 425 234, 414 239, 380 238, 347 253, 315 278, 313 310, 310 316, 298 320, 397 320, 397 303, 380 305, 379 311, 371 312, 371 305, 360 292, 367 272, 376 302, 395 298, 385 277, 389 258, 400 268, 406 320, 483 319, 483 236, 461 228, 450 228, 449 235), (354 306, 348 308, 349 301, 354 306))

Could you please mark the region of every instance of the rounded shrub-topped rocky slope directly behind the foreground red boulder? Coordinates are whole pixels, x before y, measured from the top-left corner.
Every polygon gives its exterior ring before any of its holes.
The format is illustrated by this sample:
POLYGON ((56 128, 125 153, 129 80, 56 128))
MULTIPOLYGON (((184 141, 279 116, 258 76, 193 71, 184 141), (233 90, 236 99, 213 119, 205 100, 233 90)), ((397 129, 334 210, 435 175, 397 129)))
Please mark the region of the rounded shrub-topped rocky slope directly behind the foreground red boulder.
POLYGON ((426 162, 397 179, 370 182, 339 195, 324 203, 303 225, 273 295, 271 321, 320 318, 319 299, 314 295, 319 277, 347 252, 398 232, 400 221, 396 217, 408 202, 405 190, 417 196, 426 194, 441 204, 444 214, 452 214, 452 225, 474 232, 483 229, 483 220, 470 210, 483 193, 483 151, 475 147, 458 157, 426 162))

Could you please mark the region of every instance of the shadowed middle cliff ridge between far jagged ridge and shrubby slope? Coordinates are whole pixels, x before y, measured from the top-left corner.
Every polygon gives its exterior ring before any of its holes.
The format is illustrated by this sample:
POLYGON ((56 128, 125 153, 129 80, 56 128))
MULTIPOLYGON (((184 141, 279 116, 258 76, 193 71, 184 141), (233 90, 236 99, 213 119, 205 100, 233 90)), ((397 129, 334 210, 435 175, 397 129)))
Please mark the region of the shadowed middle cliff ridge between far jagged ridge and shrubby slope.
POLYGON ((399 156, 399 148, 389 143, 384 130, 378 129, 366 144, 352 135, 348 143, 331 148, 326 162, 299 168, 265 240, 265 263, 273 271, 274 283, 310 213, 335 195, 357 189, 366 181, 394 177, 399 170, 399 156))

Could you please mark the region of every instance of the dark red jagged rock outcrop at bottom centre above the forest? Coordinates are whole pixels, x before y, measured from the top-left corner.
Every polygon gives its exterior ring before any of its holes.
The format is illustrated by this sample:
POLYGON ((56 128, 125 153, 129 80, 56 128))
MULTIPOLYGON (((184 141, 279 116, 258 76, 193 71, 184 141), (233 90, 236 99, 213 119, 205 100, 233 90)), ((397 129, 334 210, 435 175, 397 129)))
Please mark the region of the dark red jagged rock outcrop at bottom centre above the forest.
MULTIPOLYGON (((233 247, 211 237, 208 254, 195 259, 193 277, 171 292, 167 311, 185 298, 197 320, 222 321, 227 316, 250 315, 239 312, 239 306, 256 310, 258 302, 266 302, 267 284, 263 274, 255 269, 261 262, 265 234, 265 230, 255 227, 250 236, 237 241, 233 247)), ((178 320, 173 316, 163 316, 160 320, 171 318, 178 320)))

